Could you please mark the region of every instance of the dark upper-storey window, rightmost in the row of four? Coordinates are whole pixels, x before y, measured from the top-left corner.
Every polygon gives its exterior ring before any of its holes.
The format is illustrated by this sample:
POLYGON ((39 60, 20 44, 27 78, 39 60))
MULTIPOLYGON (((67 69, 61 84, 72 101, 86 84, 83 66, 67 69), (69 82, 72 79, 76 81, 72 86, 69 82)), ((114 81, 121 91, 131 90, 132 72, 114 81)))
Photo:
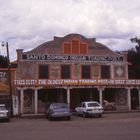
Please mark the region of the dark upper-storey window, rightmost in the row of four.
POLYGON ((110 66, 106 65, 101 66, 101 78, 110 79, 110 66))

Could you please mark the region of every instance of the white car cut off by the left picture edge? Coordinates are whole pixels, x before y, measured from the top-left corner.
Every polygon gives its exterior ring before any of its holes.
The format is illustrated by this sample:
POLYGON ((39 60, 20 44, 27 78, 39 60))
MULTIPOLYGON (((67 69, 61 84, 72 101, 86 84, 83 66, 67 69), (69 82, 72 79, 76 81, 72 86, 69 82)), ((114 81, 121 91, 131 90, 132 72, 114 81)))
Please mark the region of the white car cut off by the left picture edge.
POLYGON ((9 111, 6 109, 5 104, 0 104, 0 120, 9 121, 9 111))

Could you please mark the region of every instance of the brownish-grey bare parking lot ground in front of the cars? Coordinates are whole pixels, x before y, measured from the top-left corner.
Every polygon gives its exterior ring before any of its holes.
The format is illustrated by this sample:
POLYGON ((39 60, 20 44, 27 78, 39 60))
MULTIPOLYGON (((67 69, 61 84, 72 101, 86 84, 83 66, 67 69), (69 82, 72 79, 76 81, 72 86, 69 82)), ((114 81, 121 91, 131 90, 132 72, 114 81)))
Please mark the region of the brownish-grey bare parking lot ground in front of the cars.
POLYGON ((102 118, 73 116, 70 121, 12 118, 0 123, 0 140, 138 140, 140 113, 104 114, 102 118))

